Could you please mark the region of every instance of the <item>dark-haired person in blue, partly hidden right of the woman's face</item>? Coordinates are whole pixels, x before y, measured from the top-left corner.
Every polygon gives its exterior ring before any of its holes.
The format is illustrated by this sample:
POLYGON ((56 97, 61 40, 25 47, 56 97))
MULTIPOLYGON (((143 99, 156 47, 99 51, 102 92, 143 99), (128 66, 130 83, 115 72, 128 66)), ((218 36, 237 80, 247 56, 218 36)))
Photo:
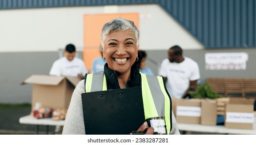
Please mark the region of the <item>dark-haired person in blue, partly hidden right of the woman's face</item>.
POLYGON ((146 56, 146 51, 138 50, 137 67, 143 74, 155 76, 153 71, 149 67, 146 67, 146 56))

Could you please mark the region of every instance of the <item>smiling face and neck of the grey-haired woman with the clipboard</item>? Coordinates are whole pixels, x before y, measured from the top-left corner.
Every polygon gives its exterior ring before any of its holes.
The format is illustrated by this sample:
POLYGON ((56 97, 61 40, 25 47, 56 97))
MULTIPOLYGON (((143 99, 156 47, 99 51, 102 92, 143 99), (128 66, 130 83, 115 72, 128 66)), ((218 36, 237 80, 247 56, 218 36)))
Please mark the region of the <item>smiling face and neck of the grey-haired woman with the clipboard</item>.
POLYGON ((103 46, 103 57, 110 69, 118 72, 120 88, 126 88, 129 79, 131 66, 134 64, 138 47, 134 32, 126 30, 124 32, 114 32, 105 37, 103 46))

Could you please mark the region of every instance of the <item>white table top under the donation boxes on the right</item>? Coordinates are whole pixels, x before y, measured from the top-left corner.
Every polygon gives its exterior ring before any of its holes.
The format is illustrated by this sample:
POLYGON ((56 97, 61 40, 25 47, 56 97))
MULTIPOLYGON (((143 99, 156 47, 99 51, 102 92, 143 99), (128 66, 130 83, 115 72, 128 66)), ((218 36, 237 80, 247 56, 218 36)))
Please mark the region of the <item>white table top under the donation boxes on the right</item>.
POLYGON ((224 125, 202 125, 202 124, 188 124, 188 123, 178 123, 178 128, 179 130, 191 131, 191 132, 256 135, 256 118, 254 118, 253 129, 233 129, 233 128, 225 128, 224 125))

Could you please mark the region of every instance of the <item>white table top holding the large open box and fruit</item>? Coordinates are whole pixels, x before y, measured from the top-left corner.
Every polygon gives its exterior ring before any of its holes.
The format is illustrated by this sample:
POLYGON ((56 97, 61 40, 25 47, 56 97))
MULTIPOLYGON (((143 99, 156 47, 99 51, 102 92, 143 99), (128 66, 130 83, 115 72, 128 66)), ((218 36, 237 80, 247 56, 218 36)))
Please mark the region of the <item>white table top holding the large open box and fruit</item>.
POLYGON ((64 126, 64 120, 52 120, 51 118, 36 119, 31 115, 26 115, 19 119, 21 124, 34 124, 34 125, 53 125, 53 126, 64 126))

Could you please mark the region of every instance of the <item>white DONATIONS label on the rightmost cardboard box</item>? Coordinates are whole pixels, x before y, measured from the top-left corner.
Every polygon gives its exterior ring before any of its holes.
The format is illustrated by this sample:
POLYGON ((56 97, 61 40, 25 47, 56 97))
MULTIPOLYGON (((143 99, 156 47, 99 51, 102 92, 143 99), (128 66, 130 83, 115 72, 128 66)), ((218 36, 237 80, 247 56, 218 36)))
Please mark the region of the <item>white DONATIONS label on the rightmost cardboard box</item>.
POLYGON ((230 123, 253 123, 253 113, 226 112, 226 122, 230 123))

